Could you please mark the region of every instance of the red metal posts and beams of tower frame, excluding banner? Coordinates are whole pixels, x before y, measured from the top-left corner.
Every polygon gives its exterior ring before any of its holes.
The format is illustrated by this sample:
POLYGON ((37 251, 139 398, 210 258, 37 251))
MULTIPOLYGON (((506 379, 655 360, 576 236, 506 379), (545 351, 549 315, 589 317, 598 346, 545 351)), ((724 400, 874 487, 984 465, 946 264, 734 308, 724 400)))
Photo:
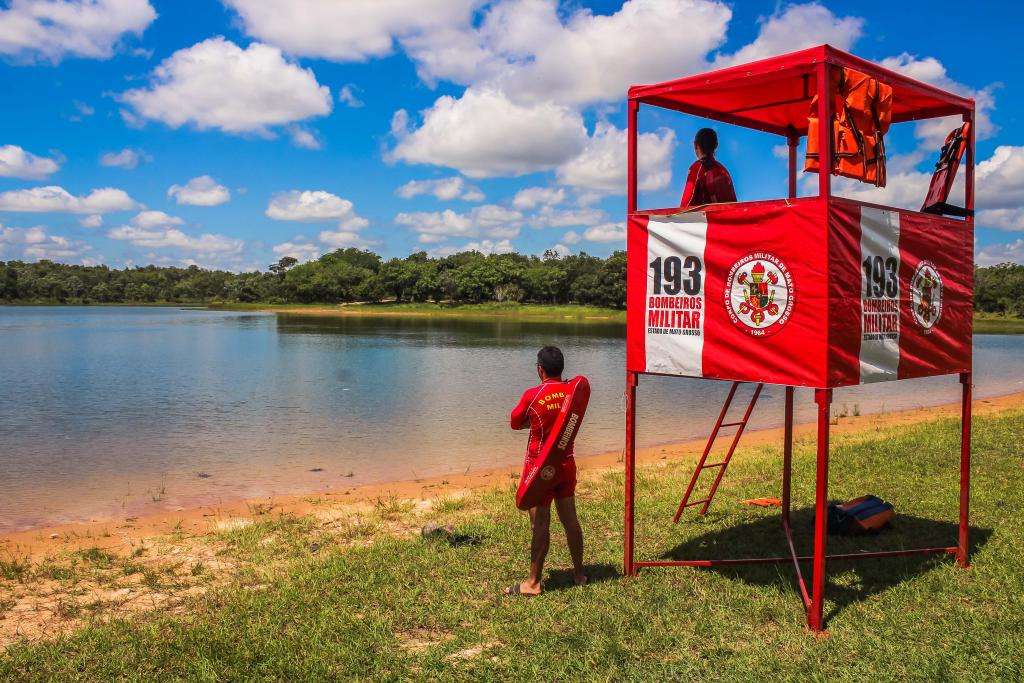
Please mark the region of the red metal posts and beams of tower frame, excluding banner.
MULTIPOLYGON (((830 48, 829 48, 830 49, 830 48)), ((850 57, 852 55, 844 55, 844 57, 850 57)), ((830 120, 830 98, 826 96, 824 88, 826 83, 828 83, 828 70, 834 68, 831 65, 831 59, 823 59, 814 65, 814 69, 817 71, 817 86, 818 86, 818 120, 819 121, 829 121, 830 120)), ((849 59, 847 59, 849 61, 849 59)), ((866 71, 867 73, 883 73, 885 70, 870 65, 863 60, 857 60, 855 63, 857 69, 861 71, 866 71)), ((887 74, 888 75, 888 74, 887 74)), ((902 77, 901 77, 902 78, 902 77)), ((650 88, 651 86, 646 86, 650 88)), ((923 86, 931 88, 931 86, 923 86)), ((627 152, 627 209, 632 214, 637 211, 637 119, 639 116, 640 101, 645 101, 647 103, 654 103, 651 96, 652 93, 647 92, 644 95, 640 95, 636 92, 637 88, 631 89, 631 96, 628 103, 628 152, 627 152)), ((940 91, 941 92, 941 91, 940 91)), ((948 95, 948 93, 943 93, 948 95)), ((954 96, 948 95, 950 98, 955 99, 954 96)), ((974 102, 972 100, 964 100, 962 102, 955 102, 956 106, 970 106, 970 111, 964 113, 963 117, 965 121, 971 121, 974 123, 974 102)), ((679 109, 683 111, 682 108, 670 108, 679 109)), ((943 113, 948 114, 948 112, 935 112, 935 113, 922 113, 921 117, 925 118, 928 116, 941 116, 943 113)), ((698 114, 705 115, 707 118, 718 118, 719 120, 728 120, 723 118, 722 113, 717 116, 709 116, 709 112, 700 112, 698 114)), ((739 119, 734 115, 724 115, 729 116, 730 119, 739 119)), ((738 123, 739 125, 744 125, 741 121, 731 120, 730 123, 738 123)), ((749 125, 749 124, 748 124, 749 125)), ((764 127, 759 125, 750 125, 752 128, 758 128, 764 130, 764 127)), ((974 171, 975 171, 975 153, 974 153, 974 129, 971 126, 971 141, 967 150, 967 182, 966 182, 966 197, 965 197, 965 207, 969 210, 974 209, 974 199, 975 199, 975 183, 974 183, 974 171)), ((787 195, 791 198, 795 198, 797 195, 797 142, 799 140, 799 133, 792 129, 785 131, 771 131, 783 134, 786 137, 788 144, 788 187, 787 195)), ((818 148, 821 151, 820 167, 822 169, 831 168, 831 135, 829 126, 819 127, 819 144, 818 148)), ((818 174, 818 193, 820 197, 828 200, 831 196, 831 174, 830 173, 819 173, 818 174)), ((967 218, 967 220, 973 222, 973 217, 967 218)), ((827 264, 826 264, 827 267, 827 264)), ((793 529, 791 526, 791 488, 793 481, 793 403, 794 403, 794 388, 785 387, 785 416, 784 416, 784 432, 783 432, 783 455, 782 455, 782 509, 781 509, 781 526, 783 535, 785 536, 786 545, 788 549, 788 555, 780 555, 775 557, 746 557, 746 558, 728 558, 728 559, 690 559, 690 560, 645 560, 637 561, 635 557, 635 540, 636 540, 636 527, 635 527, 635 506, 636 506, 636 401, 637 401, 637 385, 640 380, 640 373, 627 372, 626 375, 626 452, 624 454, 625 460, 625 475, 626 475, 626 492, 625 492, 625 531, 624 531, 624 561, 623 570, 627 577, 635 577, 637 570, 641 567, 673 567, 673 566, 691 566, 691 567, 714 567, 714 566, 733 566, 740 564, 766 564, 766 563, 784 563, 791 561, 794 566, 796 573, 797 587, 800 591, 800 597, 804 603, 804 607, 807 614, 807 626, 808 628, 816 633, 824 631, 824 596, 825 596, 825 568, 826 561, 847 561, 847 560, 859 560, 859 559, 869 559, 869 558, 886 558, 886 557, 903 557, 909 555, 935 555, 935 554, 949 554, 954 555, 956 562, 962 567, 968 567, 970 565, 970 489, 971 489, 971 400, 972 400, 972 381, 971 372, 965 372, 959 375, 959 381, 962 384, 962 428, 961 428, 961 475, 959 475, 959 524, 958 533, 955 546, 940 546, 940 547, 930 547, 930 548, 913 548, 907 550, 883 550, 876 552, 866 553, 848 553, 840 555, 828 555, 826 552, 826 541, 828 532, 828 420, 829 420, 829 407, 831 403, 833 392, 831 389, 816 389, 814 392, 814 400, 817 403, 817 454, 816 454, 816 477, 815 477, 815 496, 814 496, 814 547, 813 553, 811 555, 798 555, 796 550, 796 545, 793 541, 793 529), (811 585, 808 587, 807 582, 804 579, 804 573, 801 567, 801 562, 811 563, 811 585)), ((721 423, 722 417, 720 416, 719 423, 721 423)))

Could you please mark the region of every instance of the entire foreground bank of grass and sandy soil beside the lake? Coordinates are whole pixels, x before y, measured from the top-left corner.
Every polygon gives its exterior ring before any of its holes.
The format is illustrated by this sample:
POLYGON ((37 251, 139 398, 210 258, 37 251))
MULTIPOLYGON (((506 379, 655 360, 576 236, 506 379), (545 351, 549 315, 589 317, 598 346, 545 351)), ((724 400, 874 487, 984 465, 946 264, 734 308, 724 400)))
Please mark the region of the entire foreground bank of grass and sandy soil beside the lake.
MULTIPOLYGON (((545 594, 534 599, 499 596, 521 579, 528 546, 509 469, 169 514, 147 535, 127 520, 38 530, 34 552, 7 537, 0 679, 739 680, 842 678, 855 666, 871 678, 1015 680, 1024 674, 1024 394, 976 401, 976 415, 971 570, 939 557, 833 562, 830 638, 807 634, 788 566, 622 578, 612 453, 581 460, 591 584, 571 586, 556 532, 545 594), (424 536, 428 524, 456 531, 424 536)), ((836 422, 833 497, 874 493, 897 516, 874 537, 831 537, 829 549, 952 542, 956 407, 836 422)), ((701 444, 638 452, 638 552, 778 554, 777 510, 740 501, 776 495, 780 430, 751 432, 711 513, 672 525, 701 444)), ((813 525, 812 425, 798 427, 795 451, 802 551, 813 525)))

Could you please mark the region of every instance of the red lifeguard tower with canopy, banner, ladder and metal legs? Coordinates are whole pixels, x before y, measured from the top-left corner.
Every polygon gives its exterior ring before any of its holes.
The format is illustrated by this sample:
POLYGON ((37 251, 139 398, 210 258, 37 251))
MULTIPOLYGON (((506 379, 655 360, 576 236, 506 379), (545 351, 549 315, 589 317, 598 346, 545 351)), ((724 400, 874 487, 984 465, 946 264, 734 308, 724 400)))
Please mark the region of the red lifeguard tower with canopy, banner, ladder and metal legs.
MULTIPOLYGON (((817 632, 824 628, 827 560, 950 554, 966 567, 974 101, 821 45, 667 83, 634 86, 629 90, 628 114, 625 573, 634 575, 641 567, 792 562, 807 625, 817 632), (845 106, 842 83, 851 75, 873 80, 874 86, 891 96, 886 106, 892 123, 955 116, 967 124, 961 129, 961 152, 966 150, 967 157, 963 207, 940 203, 937 209, 930 208, 933 213, 833 196, 833 174, 849 175, 843 172, 840 156, 850 140, 842 139, 839 120, 851 116, 840 111, 845 106), (787 197, 707 205, 685 212, 678 208, 639 210, 637 117, 641 105, 779 135, 788 144, 787 197), (807 167, 821 169, 818 194, 797 198, 797 145, 809 128, 814 138, 809 146, 816 147, 817 154, 807 167), (951 545, 944 547, 827 555, 833 391, 867 382, 950 374, 959 376, 963 387, 955 543, 950 539, 951 545), (687 508, 701 506, 700 512, 707 511, 763 384, 785 387, 781 527, 787 554, 738 559, 634 557, 637 385, 642 375, 733 383, 676 520, 687 508), (727 422, 729 403, 740 383, 756 385, 753 399, 742 419, 727 422), (809 556, 797 554, 790 524, 794 387, 813 388, 817 404, 814 545, 809 556), (726 456, 708 463, 715 438, 726 427, 736 427, 726 456), (715 473, 711 494, 691 501, 705 470, 715 473), (803 562, 811 565, 810 586, 804 580, 803 562)), ((949 171, 946 194, 955 170, 953 166, 949 171)), ((870 179, 876 184, 885 182, 884 173, 870 179)))

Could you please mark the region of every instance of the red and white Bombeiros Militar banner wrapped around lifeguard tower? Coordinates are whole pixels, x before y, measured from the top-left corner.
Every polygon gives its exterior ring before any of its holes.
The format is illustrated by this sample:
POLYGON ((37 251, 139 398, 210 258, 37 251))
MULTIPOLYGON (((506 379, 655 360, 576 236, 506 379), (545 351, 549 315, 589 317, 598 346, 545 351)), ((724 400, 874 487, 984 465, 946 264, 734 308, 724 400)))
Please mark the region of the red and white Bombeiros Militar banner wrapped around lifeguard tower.
POLYGON ((834 387, 970 369, 970 224, 825 206, 631 216, 629 370, 834 387))

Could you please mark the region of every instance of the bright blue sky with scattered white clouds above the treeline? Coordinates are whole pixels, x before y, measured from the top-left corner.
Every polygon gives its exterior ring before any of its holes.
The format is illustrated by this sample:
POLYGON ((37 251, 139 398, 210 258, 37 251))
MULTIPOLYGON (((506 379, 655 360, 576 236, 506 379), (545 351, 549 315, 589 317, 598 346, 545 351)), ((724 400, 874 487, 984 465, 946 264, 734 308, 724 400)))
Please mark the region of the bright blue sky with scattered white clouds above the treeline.
MULTIPOLYGON (((604 255, 624 246, 630 82, 828 42, 976 97, 978 260, 1024 262, 1024 11, 979 7, 953 20, 963 3, 934 0, 0 2, 0 259, 604 255)), ((678 201, 698 125, 645 114, 643 205, 678 201)), ((894 128, 889 187, 842 186, 916 208, 950 127, 894 128)), ((778 140, 718 128, 740 199, 780 196, 778 140)))

